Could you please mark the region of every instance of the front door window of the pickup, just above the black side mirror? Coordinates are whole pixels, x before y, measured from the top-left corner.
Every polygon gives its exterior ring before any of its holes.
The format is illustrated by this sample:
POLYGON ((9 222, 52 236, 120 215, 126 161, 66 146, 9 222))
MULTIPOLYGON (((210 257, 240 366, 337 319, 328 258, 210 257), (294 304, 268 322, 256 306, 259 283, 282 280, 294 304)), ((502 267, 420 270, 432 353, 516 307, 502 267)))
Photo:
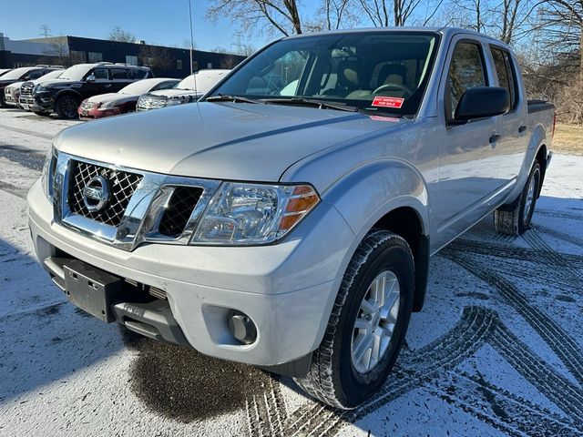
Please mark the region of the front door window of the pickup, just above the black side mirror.
POLYGON ((454 119, 460 98, 470 88, 487 86, 482 49, 476 43, 457 43, 449 65, 445 93, 445 110, 448 120, 454 119))

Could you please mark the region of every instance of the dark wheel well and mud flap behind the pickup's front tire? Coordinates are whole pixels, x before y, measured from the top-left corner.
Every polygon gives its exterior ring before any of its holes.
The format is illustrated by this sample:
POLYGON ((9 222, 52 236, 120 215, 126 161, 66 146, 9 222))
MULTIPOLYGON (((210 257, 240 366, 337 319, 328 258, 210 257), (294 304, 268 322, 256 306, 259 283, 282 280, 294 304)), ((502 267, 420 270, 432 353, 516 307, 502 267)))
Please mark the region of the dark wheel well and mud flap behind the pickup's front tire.
POLYGON ((424 235, 419 215, 414 208, 396 208, 378 220, 373 228, 394 232, 403 237, 411 248, 415 268, 413 310, 420 311, 423 308, 429 272, 429 238, 424 235))

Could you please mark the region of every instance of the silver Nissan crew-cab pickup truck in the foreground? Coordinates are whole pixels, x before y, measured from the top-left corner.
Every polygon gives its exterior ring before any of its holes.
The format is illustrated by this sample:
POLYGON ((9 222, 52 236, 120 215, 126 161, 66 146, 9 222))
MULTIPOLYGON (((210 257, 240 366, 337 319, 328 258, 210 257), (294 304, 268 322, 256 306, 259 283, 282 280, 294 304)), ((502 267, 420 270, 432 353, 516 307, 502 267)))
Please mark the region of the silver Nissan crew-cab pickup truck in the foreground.
POLYGON ((196 105, 61 132, 30 229, 97 318, 353 408, 393 368, 429 257, 492 212, 528 229, 553 123, 487 36, 286 37, 196 105))

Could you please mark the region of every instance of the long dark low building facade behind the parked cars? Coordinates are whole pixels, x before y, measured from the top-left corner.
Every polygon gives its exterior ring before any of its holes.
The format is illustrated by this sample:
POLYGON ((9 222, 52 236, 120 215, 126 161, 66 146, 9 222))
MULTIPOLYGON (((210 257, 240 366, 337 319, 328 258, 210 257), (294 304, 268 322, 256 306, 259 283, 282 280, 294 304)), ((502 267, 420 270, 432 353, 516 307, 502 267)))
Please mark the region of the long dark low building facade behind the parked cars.
MULTIPOLYGON (((193 68, 232 68, 245 56, 192 51, 193 68)), ((10 41, 0 46, 0 68, 50 64, 114 62, 149 66, 155 76, 182 78, 190 74, 190 51, 186 48, 152 46, 143 42, 122 43, 79 36, 55 36, 10 41)))

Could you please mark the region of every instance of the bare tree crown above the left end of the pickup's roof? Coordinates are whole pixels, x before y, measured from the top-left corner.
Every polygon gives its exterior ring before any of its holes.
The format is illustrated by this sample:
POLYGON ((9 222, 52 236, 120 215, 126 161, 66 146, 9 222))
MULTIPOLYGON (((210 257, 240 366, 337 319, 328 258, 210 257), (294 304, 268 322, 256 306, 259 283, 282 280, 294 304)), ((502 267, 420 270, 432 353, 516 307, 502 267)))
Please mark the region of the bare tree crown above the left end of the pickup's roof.
POLYGON ((230 16, 244 30, 267 25, 284 36, 302 34, 302 20, 296 0, 211 0, 207 17, 216 22, 230 16))

